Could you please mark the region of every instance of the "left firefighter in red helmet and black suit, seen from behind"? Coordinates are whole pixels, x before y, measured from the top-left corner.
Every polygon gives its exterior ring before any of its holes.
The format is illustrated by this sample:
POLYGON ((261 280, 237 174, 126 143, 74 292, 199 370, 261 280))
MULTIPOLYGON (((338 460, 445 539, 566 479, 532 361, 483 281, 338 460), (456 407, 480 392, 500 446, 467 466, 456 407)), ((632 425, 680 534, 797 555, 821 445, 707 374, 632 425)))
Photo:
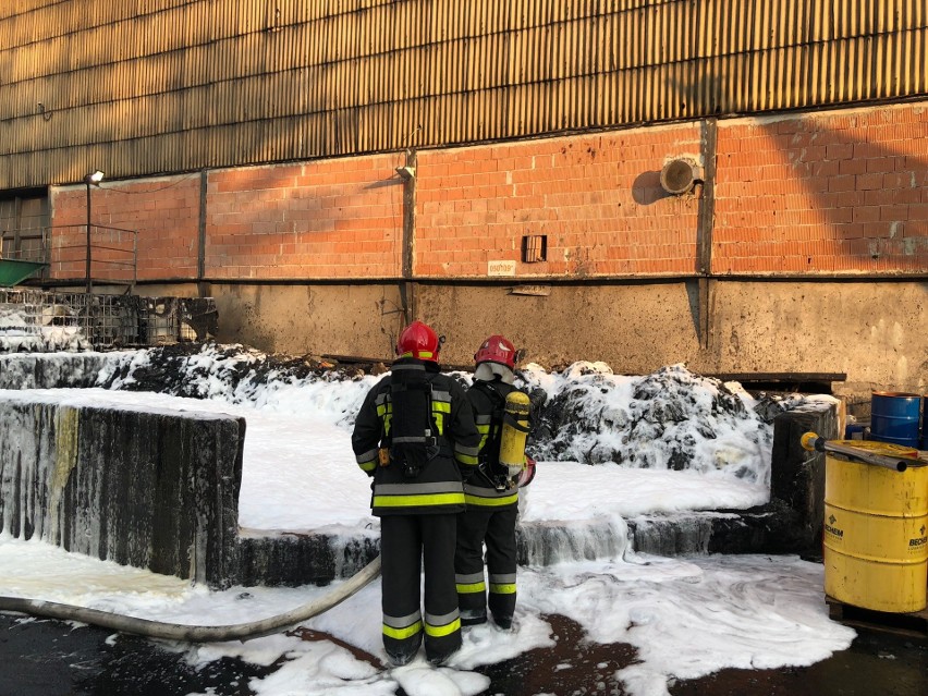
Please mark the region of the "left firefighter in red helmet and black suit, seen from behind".
POLYGON ((374 479, 383 647, 394 666, 412 660, 423 642, 435 664, 461 647, 454 545, 462 481, 476 468, 480 436, 464 388, 440 373, 440 346, 427 325, 406 327, 390 374, 368 392, 352 434, 357 464, 374 479))

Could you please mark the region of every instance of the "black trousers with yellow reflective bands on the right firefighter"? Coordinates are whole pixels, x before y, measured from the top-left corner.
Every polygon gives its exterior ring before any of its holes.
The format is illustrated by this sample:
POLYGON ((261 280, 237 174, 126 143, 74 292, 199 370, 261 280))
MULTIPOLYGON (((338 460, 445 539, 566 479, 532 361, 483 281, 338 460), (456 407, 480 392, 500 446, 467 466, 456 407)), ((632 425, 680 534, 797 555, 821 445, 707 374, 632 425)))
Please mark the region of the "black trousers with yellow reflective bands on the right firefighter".
POLYGON ((501 628, 512 625, 515 611, 515 522, 517 505, 503 509, 471 505, 457 520, 454 579, 457 606, 464 625, 487 620, 487 605, 501 628), (487 547, 489 600, 484 576, 484 544, 487 547))

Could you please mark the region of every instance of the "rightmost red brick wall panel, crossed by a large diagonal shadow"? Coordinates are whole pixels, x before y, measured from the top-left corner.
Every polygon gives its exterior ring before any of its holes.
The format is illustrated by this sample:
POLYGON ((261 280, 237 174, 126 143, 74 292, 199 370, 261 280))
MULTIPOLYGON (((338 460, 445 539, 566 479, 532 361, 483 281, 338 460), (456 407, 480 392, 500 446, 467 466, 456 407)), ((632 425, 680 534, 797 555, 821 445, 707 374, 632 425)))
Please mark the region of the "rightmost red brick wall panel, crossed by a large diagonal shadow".
POLYGON ((928 109, 719 126, 716 273, 928 271, 928 109))

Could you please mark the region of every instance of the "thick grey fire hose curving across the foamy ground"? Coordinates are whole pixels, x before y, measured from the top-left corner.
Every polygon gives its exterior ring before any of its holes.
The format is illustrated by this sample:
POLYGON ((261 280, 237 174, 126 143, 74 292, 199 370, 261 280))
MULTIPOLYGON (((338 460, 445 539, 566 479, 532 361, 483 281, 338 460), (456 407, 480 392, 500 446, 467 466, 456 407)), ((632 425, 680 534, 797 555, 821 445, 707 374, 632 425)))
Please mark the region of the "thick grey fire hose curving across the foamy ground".
POLYGON ((146 638, 160 638, 162 640, 221 643, 223 640, 237 639, 244 642, 279 633, 282 628, 296 625, 313 616, 325 613, 368 585, 379 574, 380 557, 378 555, 345 581, 343 585, 340 585, 328 595, 276 616, 223 626, 195 626, 150 621, 148 619, 125 616, 97 609, 22 597, 0 597, 0 611, 14 611, 62 621, 80 621, 102 628, 131 633, 146 638))

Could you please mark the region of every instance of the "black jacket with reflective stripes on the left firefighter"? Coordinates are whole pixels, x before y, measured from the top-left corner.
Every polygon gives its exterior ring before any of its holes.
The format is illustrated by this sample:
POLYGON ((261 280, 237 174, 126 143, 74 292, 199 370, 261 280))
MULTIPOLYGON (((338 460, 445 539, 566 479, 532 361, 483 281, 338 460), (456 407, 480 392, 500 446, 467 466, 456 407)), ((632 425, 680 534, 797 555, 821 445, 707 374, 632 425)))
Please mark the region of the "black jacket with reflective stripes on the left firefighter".
POLYGON ((357 465, 374 477, 373 513, 462 512, 462 481, 476 468, 479 442, 461 384, 431 361, 395 361, 365 398, 352 434, 357 465))

